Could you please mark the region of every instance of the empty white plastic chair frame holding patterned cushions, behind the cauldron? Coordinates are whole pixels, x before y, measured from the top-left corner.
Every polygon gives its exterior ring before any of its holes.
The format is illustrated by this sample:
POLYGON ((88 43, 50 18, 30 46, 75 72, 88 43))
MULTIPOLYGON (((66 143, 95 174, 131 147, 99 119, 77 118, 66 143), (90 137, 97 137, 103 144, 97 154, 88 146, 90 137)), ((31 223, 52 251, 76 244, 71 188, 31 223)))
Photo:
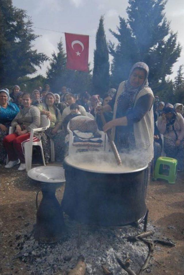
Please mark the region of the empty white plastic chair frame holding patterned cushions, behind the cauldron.
MULTIPOLYGON (((83 115, 72 118, 72 120, 81 120, 81 119, 93 120, 92 118, 83 116, 83 115)), ((87 150, 91 151, 90 149, 92 148, 92 149, 96 149, 98 151, 105 151, 106 134, 103 131, 100 131, 99 129, 97 129, 97 133, 101 135, 101 137, 99 138, 102 140, 101 147, 89 147, 87 145, 75 146, 75 145, 73 145, 74 136, 73 136, 73 132, 70 130, 70 122, 68 122, 67 131, 69 133, 69 155, 73 154, 73 153, 77 153, 78 149, 87 149, 87 150)))

